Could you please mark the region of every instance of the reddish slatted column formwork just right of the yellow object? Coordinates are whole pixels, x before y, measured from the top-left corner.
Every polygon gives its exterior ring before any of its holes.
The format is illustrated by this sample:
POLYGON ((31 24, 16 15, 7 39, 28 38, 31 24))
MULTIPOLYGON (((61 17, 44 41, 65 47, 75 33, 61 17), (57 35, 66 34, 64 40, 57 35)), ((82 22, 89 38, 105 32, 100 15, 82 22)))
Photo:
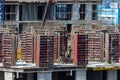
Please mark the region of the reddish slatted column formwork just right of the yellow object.
POLYGON ((34 35, 29 32, 21 34, 22 60, 34 63, 34 35))

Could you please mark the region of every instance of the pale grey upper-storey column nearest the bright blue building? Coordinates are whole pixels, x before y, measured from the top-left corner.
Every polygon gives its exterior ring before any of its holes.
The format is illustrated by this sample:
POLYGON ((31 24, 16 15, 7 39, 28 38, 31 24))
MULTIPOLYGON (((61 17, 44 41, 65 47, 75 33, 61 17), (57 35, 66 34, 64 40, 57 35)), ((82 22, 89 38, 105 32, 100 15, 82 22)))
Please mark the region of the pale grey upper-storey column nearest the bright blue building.
POLYGON ((86 4, 85 12, 85 20, 92 20, 92 4, 86 4))

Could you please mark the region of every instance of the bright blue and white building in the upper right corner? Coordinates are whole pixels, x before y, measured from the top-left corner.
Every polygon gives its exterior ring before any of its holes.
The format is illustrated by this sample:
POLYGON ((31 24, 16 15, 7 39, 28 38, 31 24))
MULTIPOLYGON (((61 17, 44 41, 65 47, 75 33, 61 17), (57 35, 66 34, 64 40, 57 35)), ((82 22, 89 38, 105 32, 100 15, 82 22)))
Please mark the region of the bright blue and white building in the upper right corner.
POLYGON ((101 20, 104 26, 118 27, 120 24, 119 2, 116 0, 103 0, 102 5, 98 6, 98 20, 101 20))

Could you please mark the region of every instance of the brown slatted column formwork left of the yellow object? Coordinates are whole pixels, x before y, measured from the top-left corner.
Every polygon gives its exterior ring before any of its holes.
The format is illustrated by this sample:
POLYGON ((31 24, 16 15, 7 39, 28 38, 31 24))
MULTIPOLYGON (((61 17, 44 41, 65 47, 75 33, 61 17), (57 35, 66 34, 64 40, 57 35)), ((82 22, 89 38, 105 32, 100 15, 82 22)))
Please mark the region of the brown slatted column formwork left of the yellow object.
POLYGON ((2 35, 2 53, 3 65, 6 67, 13 66, 16 63, 17 55, 17 36, 14 34, 3 34, 2 35))

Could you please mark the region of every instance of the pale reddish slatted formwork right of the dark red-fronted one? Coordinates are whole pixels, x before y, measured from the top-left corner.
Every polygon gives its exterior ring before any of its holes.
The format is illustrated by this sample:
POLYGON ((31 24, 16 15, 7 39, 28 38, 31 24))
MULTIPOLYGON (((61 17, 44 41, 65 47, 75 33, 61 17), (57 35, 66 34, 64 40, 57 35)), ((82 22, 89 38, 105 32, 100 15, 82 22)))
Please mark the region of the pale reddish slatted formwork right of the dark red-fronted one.
POLYGON ((103 61, 103 34, 88 33, 88 61, 102 62, 103 61))

